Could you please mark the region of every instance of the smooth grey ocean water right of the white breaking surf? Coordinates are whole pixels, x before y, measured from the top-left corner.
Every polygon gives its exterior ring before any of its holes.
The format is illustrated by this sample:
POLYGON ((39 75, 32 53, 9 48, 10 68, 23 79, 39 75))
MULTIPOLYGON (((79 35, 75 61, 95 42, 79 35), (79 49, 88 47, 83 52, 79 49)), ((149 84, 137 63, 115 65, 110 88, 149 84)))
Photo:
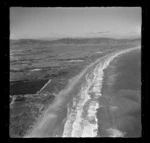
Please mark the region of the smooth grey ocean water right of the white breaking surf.
MULTIPOLYGON (((116 57, 104 70, 102 97, 109 97, 107 108, 99 109, 102 122, 116 125, 125 137, 140 137, 141 123, 141 51, 136 49, 116 57), (111 111, 110 107, 118 107, 111 111), (104 112, 102 115, 102 112, 104 112)), ((105 134, 105 133, 104 133, 105 134)))

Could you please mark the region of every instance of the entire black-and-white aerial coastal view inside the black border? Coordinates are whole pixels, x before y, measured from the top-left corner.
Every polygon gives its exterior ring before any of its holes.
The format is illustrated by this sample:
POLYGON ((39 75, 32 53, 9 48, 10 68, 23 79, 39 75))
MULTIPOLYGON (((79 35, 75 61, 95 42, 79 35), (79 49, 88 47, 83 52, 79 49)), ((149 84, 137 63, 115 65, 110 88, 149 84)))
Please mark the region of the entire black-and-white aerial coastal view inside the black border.
POLYGON ((141 137, 141 9, 10 9, 11 138, 141 137))

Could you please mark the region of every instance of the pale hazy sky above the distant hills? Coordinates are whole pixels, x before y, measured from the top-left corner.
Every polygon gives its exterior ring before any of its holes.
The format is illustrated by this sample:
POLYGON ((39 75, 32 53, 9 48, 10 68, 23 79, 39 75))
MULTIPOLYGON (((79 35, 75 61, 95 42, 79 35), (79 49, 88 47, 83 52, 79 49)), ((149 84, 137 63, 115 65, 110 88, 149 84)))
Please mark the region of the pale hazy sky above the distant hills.
POLYGON ((10 38, 135 37, 140 7, 10 8, 10 38))

